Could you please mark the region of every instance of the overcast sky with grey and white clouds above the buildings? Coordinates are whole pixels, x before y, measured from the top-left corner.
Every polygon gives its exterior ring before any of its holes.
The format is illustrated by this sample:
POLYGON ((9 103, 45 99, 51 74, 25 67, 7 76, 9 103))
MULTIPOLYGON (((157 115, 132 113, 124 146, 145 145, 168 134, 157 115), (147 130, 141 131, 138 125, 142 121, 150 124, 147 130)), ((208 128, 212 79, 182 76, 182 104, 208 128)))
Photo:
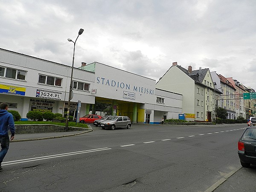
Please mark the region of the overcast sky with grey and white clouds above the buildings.
POLYGON ((156 81, 177 62, 256 90, 255 0, 1 0, 0 48, 156 81))

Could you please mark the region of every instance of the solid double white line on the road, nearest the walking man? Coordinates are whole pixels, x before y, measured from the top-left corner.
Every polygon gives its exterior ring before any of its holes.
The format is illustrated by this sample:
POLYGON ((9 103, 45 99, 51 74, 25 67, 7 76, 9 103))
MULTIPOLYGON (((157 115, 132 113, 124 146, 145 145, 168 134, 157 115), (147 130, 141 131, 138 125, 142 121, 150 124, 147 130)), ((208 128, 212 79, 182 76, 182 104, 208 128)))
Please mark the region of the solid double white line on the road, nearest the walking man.
POLYGON ((65 156, 76 155, 76 154, 84 154, 84 153, 90 153, 90 152, 96 152, 96 151, 104 151, 104 150, 108 150, 108 149, 111 149, 111 148, 108 148, 108 147, 96 148, 96 149, 90 149, 90 150, 85 150, 85 151, 75 151, 75 152, 70 152, 70 153, 48 155, 48 156, 43 156, 43 157, 34 157, 34 158, 29 158, 29 159, 6 161, 6 162, 2 163, 2 166, 13 165, 13 164, 18 164, 18 163, 26 163, 26 162, 31 162, 31 161, 39 161, 39 160, 45 160, 45 159, 52 159, 52 158, 57 158, 57 157, 65 157, 65 156))

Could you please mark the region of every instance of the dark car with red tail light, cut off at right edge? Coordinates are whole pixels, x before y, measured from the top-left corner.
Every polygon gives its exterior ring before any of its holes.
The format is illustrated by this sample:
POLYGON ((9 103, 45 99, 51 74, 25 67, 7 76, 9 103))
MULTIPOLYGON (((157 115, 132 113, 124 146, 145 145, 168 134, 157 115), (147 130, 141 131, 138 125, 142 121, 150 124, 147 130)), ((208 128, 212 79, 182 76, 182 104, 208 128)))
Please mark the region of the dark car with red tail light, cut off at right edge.
POLYGON ((247 127, 238 142, 238 156, 243 167, 256 165, 256 127, 247 127))

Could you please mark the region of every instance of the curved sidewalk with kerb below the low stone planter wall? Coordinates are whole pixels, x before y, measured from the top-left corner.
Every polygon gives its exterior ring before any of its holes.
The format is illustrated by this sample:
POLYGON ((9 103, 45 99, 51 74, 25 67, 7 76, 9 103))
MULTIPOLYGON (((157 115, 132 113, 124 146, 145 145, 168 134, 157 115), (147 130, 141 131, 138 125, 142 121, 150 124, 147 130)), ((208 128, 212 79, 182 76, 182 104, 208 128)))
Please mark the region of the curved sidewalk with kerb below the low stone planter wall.
POLYGON ((88 129, 83 131, 67 131, 67 132, 50 132, 50 133, 33 133, 33 134, 15 134, 14 140, 12 142, 21 142, 21 141, 35 141, 35 140, 47 140, 55 139, 61 137, 71 137, 80 134, 85 134, 93 131, 90 125, 88 129))

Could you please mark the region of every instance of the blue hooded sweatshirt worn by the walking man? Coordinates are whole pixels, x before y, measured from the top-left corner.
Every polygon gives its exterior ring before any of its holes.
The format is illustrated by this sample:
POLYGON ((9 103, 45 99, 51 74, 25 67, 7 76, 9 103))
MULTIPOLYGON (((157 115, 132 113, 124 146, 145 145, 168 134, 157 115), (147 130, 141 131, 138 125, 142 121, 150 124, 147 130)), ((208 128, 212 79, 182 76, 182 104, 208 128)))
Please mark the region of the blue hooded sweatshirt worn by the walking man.
POLYGON ((10 129, 12 136, 15 134, 15 126, 12 113, 4 109, 0 109, 0 136, 8 135, 10 129))

